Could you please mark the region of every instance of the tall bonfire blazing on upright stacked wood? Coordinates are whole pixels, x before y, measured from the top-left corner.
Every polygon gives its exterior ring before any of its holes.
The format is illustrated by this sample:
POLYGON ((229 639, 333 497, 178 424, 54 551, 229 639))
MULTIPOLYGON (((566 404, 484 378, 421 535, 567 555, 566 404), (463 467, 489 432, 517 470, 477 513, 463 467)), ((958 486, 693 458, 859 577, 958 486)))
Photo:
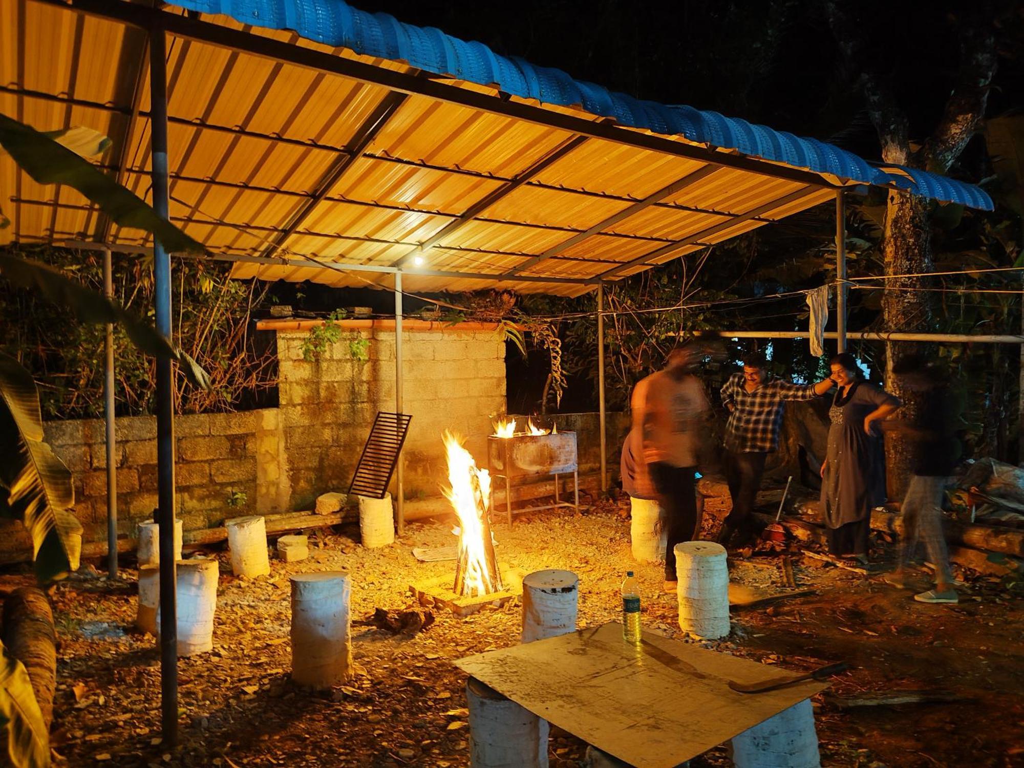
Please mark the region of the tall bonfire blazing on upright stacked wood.
MULTIPOLYGON (((512 422, 513 426, 515 422, 512 422)), ((478 597, 502 588, 490 539, 490 473, 479 469, 459 438, 444 432, 449 482, 444 496, 459 517, 459 549, 456 559, 455 593, 478 597)), ((455 532, 455 531, 453 531, 455 532)))

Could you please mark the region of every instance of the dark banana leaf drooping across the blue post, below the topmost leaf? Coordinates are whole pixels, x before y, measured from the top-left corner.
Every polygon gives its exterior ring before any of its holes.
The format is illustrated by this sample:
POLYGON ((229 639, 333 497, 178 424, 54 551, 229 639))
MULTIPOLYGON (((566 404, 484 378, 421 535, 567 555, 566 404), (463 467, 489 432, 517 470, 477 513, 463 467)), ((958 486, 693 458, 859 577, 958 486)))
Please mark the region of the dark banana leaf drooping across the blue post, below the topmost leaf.
POLYGON ((38 291, 54 304, 70 309, 81 323, 120 324, 132 343, 143 352, 155 357, 170 357, 181 366, 182 373, 194 386, 210 388, 206 371, 153 326, 135 318, 118 302, 89 290, 59 269, 0 252, 0 273, 15 286, 38 291))

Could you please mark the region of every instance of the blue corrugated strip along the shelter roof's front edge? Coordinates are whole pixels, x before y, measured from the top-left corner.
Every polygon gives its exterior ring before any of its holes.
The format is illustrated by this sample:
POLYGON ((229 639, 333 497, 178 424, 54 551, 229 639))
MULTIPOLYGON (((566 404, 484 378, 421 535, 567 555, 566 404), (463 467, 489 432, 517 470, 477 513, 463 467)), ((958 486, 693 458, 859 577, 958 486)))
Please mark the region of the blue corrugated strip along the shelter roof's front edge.
POLYGON ((896 185, 915 195, 992 210, 992 201, 973 184, 911 168, 887 173, 851 152, 814 138, 801 138, 739 118, 692 106, 667 105, 574 80, 561 70, 503 56, 478 42, 466 42, 433 27, 415 27, 387 13, 369 13, 343 0, 170 0, 203 13, 220 13, 242 24, 294 30, 308 40, 349 48, 368 56, 408 61, 412 67, 479 85, 496 85, 522 98, 563 106, 580 105, 620 125, 696 143, 735 150, 751 157, 826 173, 864 184, 896 185))

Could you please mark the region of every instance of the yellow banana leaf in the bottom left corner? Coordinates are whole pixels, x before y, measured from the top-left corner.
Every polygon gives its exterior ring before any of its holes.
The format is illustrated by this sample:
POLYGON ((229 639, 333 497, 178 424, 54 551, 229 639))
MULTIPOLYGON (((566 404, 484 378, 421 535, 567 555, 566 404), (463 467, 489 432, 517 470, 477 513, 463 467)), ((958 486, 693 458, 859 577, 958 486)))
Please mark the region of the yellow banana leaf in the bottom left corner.
POLYGON ((48 768, 50 737, 43 723, 36 694, 25 665, 0 643, 0 729, 6 765, 13 768, 48 768))

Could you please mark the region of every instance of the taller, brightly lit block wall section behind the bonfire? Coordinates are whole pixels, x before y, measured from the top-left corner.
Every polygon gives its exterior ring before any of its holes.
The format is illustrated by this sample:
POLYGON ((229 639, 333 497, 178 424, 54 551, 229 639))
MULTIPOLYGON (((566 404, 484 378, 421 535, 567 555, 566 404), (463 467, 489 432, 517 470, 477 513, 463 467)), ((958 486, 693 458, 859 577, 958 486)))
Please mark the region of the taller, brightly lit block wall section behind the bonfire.
MULTIPOLYGON (((339 325, 340 340, 313 361, 302 354, 308 330, 278 332, 282 438, 296 509, 348 487, 377 412, 395 409, 394 323, 339 325), (353 358, 357 340, 369 342, 365 360, 353 358)), ((407 321, 402 357, 402 410, 413 417, 406 497, 436 496, 446 474, 443 430, 486 461, 492 417, 505 410, 505 342, 490 325, 407 321)))

